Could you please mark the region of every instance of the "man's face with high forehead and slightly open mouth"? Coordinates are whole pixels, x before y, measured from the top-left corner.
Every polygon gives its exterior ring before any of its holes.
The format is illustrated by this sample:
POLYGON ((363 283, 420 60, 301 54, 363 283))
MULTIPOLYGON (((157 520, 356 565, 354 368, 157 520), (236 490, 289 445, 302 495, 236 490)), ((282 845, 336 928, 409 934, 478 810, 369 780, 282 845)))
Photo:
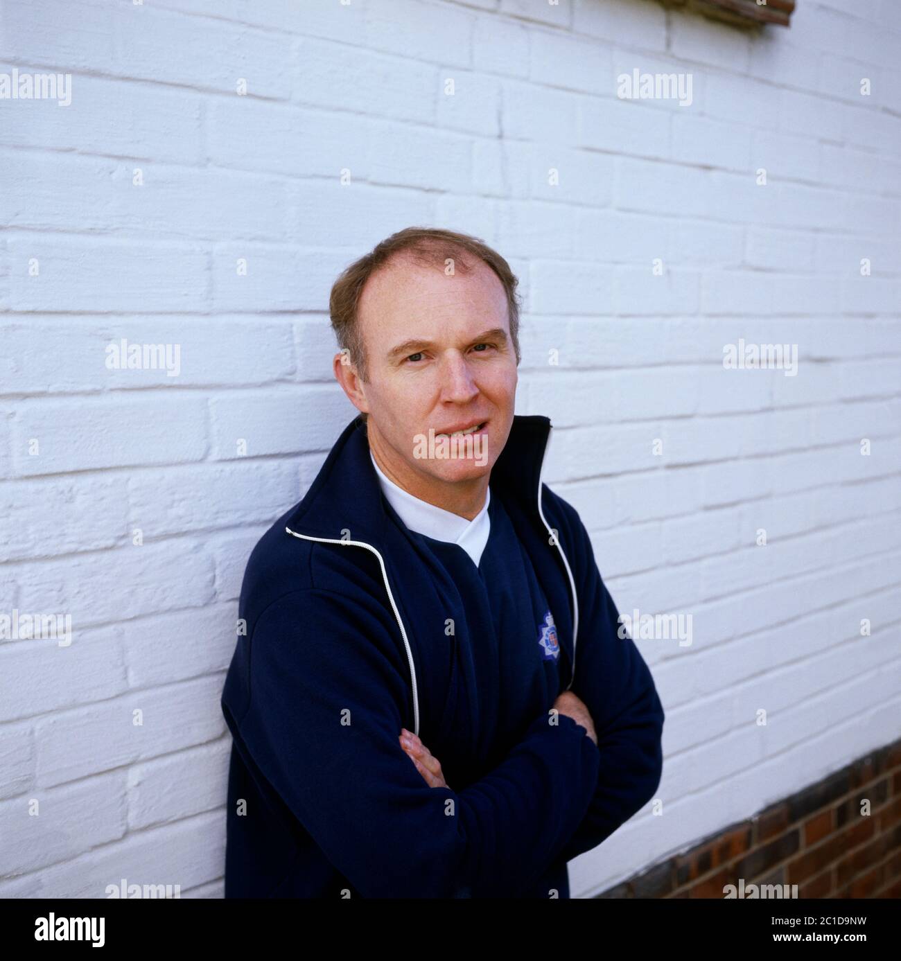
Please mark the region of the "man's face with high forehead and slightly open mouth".
MULTIPOLYGON (((516 356, 504 287, 487 264, 447 276, 395 259, 363 288, 359 322, 368 382, 359 382, 370 444, 388 477, 440 501, 448 485, 487 478, 513 425, 516 356), (456 437, 456 456, 430 456, 456 437), (426 456, 422 456, 425 452, 426 456)), ((352 398, 353 399, 353 398, 352 398)), ((459 486, 458 486, 459 489, 459 486)))

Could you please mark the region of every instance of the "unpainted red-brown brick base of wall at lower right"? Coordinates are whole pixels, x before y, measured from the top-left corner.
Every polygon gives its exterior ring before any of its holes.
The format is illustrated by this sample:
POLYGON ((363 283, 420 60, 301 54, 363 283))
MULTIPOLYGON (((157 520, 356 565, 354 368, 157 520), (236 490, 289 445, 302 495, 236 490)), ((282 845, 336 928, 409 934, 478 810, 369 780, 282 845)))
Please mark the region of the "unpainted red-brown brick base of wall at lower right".
POLYGON ((797 884, 799 898, 901 898, 901 740, 866 754, 599 898, 722 898, 797 884))

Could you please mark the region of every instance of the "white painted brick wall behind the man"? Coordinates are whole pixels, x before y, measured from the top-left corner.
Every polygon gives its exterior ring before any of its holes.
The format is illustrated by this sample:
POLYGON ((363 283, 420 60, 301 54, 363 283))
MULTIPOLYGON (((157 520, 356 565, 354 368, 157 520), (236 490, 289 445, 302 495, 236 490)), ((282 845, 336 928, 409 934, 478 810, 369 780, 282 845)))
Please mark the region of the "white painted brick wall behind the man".
POLYGON ((654 0, 0 0, 0 73, 72 76, 67 107, 0 101, 0 612, 73 623, 0 642, 0 897, 221 897, 244 564, 353 414, 331 283, 416 223, 510 259, 548 480, 621 611, 693 617, 638 641, 663 817, 573 893, 896 738, 893 7, 748 34, 654 0), (618 99, 635 68, 692 104, 618 99), (107 369, 122 337, 179 376, 107 369), (796 343, 797 376, 724 370, 739 337, 796 343))

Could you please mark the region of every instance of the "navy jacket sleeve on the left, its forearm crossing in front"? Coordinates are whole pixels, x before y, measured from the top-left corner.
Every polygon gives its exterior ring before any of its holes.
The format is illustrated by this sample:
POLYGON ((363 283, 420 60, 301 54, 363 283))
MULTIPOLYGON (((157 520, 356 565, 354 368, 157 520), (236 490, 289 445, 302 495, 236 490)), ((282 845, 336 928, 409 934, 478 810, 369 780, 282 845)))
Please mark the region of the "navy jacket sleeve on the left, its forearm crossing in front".
POLYGON ((413 727, 409 665, 385 618, 318 588, 267 607, 242 748, 364 898, 515 897, 582 821, 597 748, 571 718, 539 716, 488 776, 429 787, 398 741, 413 727))

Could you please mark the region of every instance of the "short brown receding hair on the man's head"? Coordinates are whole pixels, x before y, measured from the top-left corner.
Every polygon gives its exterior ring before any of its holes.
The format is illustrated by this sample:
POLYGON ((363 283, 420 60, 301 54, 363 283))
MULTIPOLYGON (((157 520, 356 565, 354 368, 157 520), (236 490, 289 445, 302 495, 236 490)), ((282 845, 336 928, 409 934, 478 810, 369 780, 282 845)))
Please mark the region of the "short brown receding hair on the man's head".
POLYGON ((510 308, 510 336, 516 363, 519 363, 519 283, 510 264, 497 251, 488 247, 478 237, 457 234, 432 227, 407 227, 391 234, 359 260, 345 267, 332 286, 329 313, 332 327, 338 338, 338 347, 346 350, 357 373, 367 380, 366 357, 363 336, 358 323, 360 298, 366 281, 392 258, 403 255, 421 266, 443 266, 447 259, 454 260, 454 270, 467 274, 474 266, 472 259, 487 263, 504 285, 510 308))

